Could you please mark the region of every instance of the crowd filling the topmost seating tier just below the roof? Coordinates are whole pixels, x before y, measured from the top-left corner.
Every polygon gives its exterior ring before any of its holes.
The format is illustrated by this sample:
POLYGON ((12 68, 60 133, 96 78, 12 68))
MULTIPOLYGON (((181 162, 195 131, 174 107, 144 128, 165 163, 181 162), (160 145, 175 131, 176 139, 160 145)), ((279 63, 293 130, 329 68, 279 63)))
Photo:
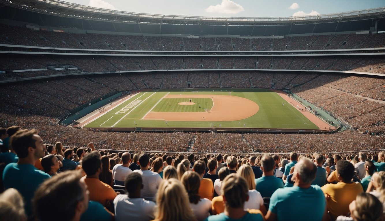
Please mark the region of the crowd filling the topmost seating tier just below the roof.
POLYGON ((54 48, 157 51, 269 51, 380 48, 383 34, 340 34, 284 38, 169 37, 107 34, 75 34, 36 31, 1 24, 0 43, 54 48), (15 37, 18 36, 18 37, 15 37), (20 37, 22 36, 22 37, 20 37))

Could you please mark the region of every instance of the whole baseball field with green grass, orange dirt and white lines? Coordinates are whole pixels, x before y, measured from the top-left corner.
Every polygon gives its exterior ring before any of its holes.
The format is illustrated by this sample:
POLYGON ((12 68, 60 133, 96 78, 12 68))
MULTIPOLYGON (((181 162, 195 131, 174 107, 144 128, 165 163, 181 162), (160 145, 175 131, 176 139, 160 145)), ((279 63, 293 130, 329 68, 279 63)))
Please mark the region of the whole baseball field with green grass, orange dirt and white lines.
POLYGON ((310 112, 291 100, 295 101, 268 89, 156 90, 116 102, 82 126, 320 129, 309 117, 310 112))

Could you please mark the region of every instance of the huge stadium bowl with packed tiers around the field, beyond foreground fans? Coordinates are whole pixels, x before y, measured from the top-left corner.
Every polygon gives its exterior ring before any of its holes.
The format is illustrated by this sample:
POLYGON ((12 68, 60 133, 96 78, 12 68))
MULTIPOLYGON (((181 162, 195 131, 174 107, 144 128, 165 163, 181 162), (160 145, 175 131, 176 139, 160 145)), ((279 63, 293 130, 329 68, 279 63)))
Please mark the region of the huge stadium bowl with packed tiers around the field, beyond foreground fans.
POLYGON ((240 147, 234 152, 245 153, 384 146, 383 8, 246 19, 119 12, 60 1, 1 3, 3 127, 23 121, 28 128, 40 128, 49 143, 60 134, 68 146, 93 141, 99 148, 133 151, 232 152, 224 147, 234 143, 240 147), (137 118, 133 112, 123 123, 100 127, 118 110, 115 106, 146 93, 186 94, 186 101, 202 94, 198 97, 207 97, 202 102, 209 105, 213 94, 232 92, 228 97, 241 99, 254 91, 266 97, 261 90, 287 99, 260 101, 255 95, 256 100, 247 98, 254 109, 240 101, 234 112, 245 115, 228 119, 209 118, 213 114, 199 102, 191 106, 198 108, 196 113, 170 111, 166 117, 163 110, 152 117, 152 104, 137 118), (278 104, 289 111, 272 111, 273 106, 280 110, 278 104), (306 111, 322 125, 303 115, 306 111), (177 147, 158 144, 164 132, 178 140, 177 147), (208 140, 221 147, 210 147, 215 145, 208 140), (304 145, 304 140, 316 142, 304 145))

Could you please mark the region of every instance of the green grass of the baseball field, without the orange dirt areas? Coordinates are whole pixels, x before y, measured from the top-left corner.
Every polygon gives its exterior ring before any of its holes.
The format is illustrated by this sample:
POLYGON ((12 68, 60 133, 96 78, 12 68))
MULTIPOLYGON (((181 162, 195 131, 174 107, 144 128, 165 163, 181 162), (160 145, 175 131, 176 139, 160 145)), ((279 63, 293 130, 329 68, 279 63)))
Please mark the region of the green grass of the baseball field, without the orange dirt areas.
MULTIPOLYGON (((196 89, 194 92, 192 92, 192 89, 189 91, 187 89, 172 89, 167 91, 141 92, 84 127, 210 127, 211 122, 207 121, 168 121, 166 125, 164 120, 144 120, 142 117, 150 110, 157 112, 204 111, 204 109, 199 108, 197 105, 181 106, 177 104, 188 99, 162 99, 167 94, 228 95, 229 90, 232 96, 244 97, 256 102, 259 106, 259 111, 243 120, 214 122, 215 127, 219 127, 219 125, 221 127, 243 127, 245 124, 246 128, 318 129, 315 124, 276 92, 266 89, 222 89, 219 91, 207 91, 207 89, 204 91, 204 89, 200 89, 198 92, 196 89), (130 104, 135 105, 130 106, 130 104), (126 109, 124 109, 125 107, 126 109)), ((208 109, 213 105, 211 99, 208 98, 199 98, 199 104, 208 105, 206 107, 208 109)))

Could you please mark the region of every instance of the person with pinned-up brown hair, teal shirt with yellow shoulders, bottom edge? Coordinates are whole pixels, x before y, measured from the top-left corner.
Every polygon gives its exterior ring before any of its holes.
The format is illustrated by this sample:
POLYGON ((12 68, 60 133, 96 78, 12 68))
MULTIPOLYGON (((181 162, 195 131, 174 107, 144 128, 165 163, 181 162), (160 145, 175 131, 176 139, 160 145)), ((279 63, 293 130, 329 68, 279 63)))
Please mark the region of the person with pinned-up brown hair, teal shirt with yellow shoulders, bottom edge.
POLYGON ((236 174, 230 174, 223 181, 222 192, 224 212, 219 215, 209 216, 206 221, 264 220, 261 211, 252 210, 249 213, 244 210, 244 203, 249 199, 248 185, 244 178, 236 174))

